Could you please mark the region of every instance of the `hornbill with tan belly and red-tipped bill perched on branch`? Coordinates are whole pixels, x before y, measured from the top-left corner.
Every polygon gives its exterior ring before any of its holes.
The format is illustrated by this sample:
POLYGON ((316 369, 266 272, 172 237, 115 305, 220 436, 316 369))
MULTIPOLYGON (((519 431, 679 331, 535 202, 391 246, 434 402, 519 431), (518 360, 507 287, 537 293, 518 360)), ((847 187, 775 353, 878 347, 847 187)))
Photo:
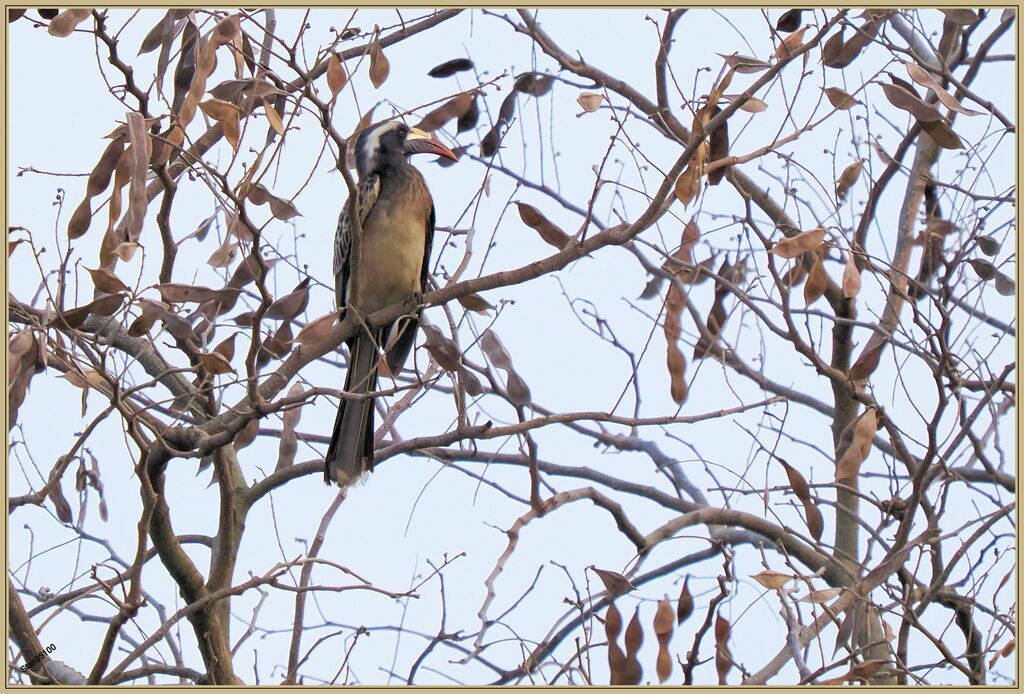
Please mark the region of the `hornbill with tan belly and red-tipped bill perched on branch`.
POLYGON ((348 340, 345 392, 324 461, 324 481, 346 487, 373 469, 374 400, 384 367, 397 375, 419 328, 419 310, 387 326, 367 328, 362 317, 419 296, 425 288, 434 234, 434 203, 423 174, 409 163, 416 154, 458 157, 432 134, 400 121, 385 121, 355 139, 357 183, 338 218, 334 245, 335 299, 339 311, 354 310, 358 332, 348 340), (362 228, 358 288, 350 286, 353 218, 362 228), (357 289, 356 292, 352 292, 357 289), (357 304, 353 305, 353 298, 357 304))

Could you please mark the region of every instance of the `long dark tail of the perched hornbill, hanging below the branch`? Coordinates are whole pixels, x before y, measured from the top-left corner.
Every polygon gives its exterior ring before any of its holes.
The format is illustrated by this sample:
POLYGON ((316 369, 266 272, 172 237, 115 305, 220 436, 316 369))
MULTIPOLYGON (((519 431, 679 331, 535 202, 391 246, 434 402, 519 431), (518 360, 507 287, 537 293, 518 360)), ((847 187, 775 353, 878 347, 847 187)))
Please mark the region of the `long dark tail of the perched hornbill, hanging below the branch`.
MULTIPOLYGON (((345 391, 364 395, 377 390, 377 346, 382 331, 373 338, 364 333, 348 343, 348 373, 345 391)), ((324 462, 324 481, 348 486, 373 468, 374 462, 374 400, 342 399, 334 422, 334 434, 324 462)))

